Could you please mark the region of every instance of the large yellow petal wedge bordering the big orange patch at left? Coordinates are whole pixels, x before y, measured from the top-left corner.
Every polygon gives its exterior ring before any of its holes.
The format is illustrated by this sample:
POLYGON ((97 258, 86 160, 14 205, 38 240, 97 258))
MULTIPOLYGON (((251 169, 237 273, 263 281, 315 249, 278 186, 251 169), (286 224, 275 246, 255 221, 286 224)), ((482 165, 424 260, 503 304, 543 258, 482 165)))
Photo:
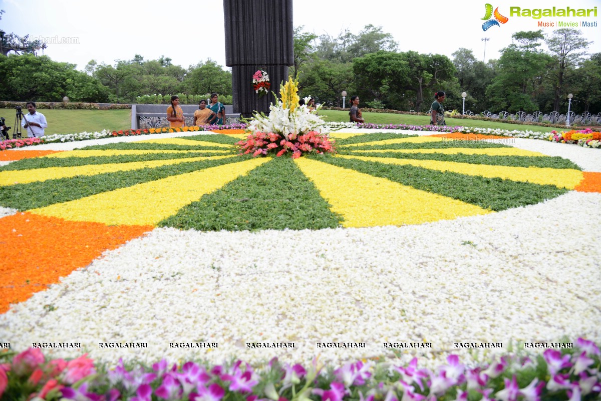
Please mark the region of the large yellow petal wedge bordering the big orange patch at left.
POLYGON ((182 207, 199 200, 203 195, 221 188, 269 160, 251 159, 206 168, 194 173, 180 174, 53 204, 30 212, 70 221, 95 221, 108 225, 156 225, 161 220, 175 215, 182 207))

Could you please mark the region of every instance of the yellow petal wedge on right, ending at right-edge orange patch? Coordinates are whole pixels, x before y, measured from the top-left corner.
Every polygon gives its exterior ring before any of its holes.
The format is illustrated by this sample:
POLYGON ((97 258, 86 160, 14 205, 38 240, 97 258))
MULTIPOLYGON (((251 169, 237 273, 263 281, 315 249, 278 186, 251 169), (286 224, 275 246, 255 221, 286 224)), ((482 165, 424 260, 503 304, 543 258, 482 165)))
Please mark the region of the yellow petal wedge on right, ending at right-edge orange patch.
POLYGON ((582 181, 582 171, 571 168, 548 167, 511 167, 486 164, 469 164, 458 162, 441 162, 435 160, 413 160, 395 158, 368 158, 365 156, 344 156, 337 158, 357 159, 366 162, 379 162, 385 164, 412 165, 429 168, 430 170, 451 171, 468 176, 498 177, 501 179, 529 182, 540 185, 555 185, 558 188, 574 189, 582 181))

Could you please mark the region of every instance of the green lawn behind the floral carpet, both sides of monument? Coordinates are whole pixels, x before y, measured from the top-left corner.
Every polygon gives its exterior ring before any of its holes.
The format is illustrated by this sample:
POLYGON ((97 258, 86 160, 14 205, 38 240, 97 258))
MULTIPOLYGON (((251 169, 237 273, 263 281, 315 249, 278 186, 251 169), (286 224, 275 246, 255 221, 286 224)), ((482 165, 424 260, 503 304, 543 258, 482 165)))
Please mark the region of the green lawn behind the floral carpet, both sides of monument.
MULTIPOLYGON (((103 129, 120 130, 131 127, 131 110, 51 110, 40 109, 46 116, 48 127, 46 134, 95 132, 103 129)), ((325 121, 347 122, 349 112, 339 110, 322 110, 319 115, 325 121)), ((14 109, 0 109, 0 117, 6 118, 7 125, 14 128, 14 109)), ((430 124, 427 115, 390 114, 364 112, 367 123, 374 124, 430 124)), ((500 128, 508 130, 532 130, 534 132, 551 132, 556 128, 540 127, 530 124, 507 124, 496 121, 463 120, 462 118, 446 118, 448 126, 466 126, 479 128, 500 128)), ((12 135, 13 130, 10 130, 12 135)))

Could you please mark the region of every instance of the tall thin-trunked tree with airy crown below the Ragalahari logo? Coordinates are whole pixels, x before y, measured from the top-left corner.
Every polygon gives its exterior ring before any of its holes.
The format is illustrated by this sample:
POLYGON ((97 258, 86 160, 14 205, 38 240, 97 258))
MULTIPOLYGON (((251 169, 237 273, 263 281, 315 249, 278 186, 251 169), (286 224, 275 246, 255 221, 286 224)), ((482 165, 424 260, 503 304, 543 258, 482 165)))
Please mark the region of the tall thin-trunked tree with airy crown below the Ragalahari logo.
POLYGON ((554 111, 559 111, 560 96, 564 90, 566 72, 575 67, 581 61, 586 49, 592 42, 581 37, 582 32, 576 29, 561 28, 553 32, 547 38, 546 43, 557 62, 555 69, 555 96, 553 102, 554 111))

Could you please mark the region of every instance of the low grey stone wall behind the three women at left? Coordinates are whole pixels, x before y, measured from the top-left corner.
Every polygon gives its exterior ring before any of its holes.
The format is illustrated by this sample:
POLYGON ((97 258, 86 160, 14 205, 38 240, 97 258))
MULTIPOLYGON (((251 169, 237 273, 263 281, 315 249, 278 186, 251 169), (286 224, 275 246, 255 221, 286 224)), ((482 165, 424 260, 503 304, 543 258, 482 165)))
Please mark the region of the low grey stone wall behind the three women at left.
MULTIPOLYGON (((132 105, 132 129, 168 127, 167 108, 169 105, 132 105)), ((197 105, 180 105, 184 112, 186 126, 192 126, 197 105)), ((234 114, 231 105, 225 105, 224 124, 240 122, 240 114, 234 114)))

